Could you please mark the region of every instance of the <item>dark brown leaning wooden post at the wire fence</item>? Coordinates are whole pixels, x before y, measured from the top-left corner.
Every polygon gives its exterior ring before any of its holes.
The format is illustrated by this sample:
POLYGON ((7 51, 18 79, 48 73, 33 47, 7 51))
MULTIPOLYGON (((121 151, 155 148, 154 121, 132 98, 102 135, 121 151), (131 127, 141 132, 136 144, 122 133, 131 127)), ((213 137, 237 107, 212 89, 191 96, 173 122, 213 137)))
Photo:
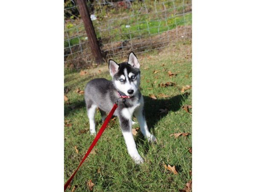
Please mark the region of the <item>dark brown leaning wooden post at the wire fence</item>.
POLYGON ((84 23, 84 28, 87 33, 88 41, 90 44, 91 51, 97 64, 104 62, 99 44, 96 38, 96 33, 93 28, 93 23, 90 19, 90 13, 88 11, 85 0, 76 0, 79 7, 79 13, 84 23))

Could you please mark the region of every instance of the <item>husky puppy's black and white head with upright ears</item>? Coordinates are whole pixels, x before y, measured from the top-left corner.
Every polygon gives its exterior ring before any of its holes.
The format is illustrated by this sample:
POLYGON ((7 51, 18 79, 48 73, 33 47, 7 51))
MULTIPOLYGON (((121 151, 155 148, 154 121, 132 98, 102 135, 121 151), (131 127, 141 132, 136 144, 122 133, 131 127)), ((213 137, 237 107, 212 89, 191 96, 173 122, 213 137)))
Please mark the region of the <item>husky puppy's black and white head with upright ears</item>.
POLYGON ((137 93, 140 87, 140 64, 134 52, 129 54, 128 62, 117 64, 110 59, 108 68, 117 90, 128 96, 137 93))

